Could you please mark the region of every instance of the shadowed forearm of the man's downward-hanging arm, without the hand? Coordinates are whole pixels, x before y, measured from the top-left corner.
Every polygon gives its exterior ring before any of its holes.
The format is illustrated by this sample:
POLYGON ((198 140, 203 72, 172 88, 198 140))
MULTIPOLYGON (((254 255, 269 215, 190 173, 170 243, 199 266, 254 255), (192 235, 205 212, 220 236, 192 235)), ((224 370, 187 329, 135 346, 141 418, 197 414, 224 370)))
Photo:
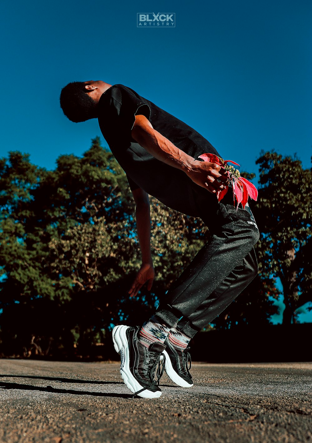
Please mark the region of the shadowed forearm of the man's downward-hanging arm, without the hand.
POLYGON ((136 207, 137 236, 139 238, 142 263, 152 263, 151 253, 151 218, 149 205, 136 207))

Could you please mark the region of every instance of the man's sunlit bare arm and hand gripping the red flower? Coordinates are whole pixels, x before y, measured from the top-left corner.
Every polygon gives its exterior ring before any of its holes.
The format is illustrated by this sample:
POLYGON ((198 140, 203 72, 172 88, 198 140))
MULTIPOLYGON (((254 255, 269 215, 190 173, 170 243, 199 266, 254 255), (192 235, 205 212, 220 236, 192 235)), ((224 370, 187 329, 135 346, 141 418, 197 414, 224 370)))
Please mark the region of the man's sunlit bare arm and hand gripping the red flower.
POLYGON ((156 159, 184 171, 194 183, 212 193, 223 189, 223 183, 228 181, 220 165, 194 160, 157 132, 144 115, 135 117, 131 137, 156 159))

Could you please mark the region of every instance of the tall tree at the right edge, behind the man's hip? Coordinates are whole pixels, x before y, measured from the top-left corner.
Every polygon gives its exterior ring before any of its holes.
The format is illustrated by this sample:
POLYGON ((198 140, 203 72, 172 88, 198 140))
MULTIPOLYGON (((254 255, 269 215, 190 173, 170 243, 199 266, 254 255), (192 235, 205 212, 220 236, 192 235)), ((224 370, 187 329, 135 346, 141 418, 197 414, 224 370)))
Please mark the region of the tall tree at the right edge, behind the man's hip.
POLYGON ((260 189, 255 218, 261 233, 260 272, 283 286, 283 324, 312 301, 312 173, 296 157, 266 152, 259 164, 260 189))

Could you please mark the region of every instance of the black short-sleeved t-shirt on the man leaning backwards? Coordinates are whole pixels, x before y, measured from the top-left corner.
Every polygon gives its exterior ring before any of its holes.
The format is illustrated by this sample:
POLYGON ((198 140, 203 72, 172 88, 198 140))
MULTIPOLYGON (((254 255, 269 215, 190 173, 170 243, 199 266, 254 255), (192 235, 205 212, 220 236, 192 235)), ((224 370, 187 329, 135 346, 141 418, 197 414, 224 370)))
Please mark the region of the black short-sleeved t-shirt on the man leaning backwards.
POLYGON ((191 189, 200 187, 185 172, 156 159, 133 140, 131 130, 136 115, 144 115, 156 131, 196 160, 205 152, 219 155, 218 152, 193 128, 127 86, 113 85, 99 100, 101 132, 126 172, 131 190, 141 187, 170 208, 198 216, 191 189))

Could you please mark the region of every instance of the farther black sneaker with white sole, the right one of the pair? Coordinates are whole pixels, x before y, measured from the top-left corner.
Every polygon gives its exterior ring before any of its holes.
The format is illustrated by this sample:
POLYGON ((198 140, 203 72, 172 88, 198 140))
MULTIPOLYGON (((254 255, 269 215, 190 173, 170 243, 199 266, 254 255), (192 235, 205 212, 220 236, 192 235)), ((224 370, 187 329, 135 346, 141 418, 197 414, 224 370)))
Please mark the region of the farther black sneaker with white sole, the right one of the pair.
POLYGON ((173 346, 169 339, 166 338, 164 345, 166 349, 163 351, 165 356, 165 371, 167 376, 178 386, 182 388, 190 388, 193 386, 192 376, 190 375, 191 359, 190 348, 182 350, 173 346))

